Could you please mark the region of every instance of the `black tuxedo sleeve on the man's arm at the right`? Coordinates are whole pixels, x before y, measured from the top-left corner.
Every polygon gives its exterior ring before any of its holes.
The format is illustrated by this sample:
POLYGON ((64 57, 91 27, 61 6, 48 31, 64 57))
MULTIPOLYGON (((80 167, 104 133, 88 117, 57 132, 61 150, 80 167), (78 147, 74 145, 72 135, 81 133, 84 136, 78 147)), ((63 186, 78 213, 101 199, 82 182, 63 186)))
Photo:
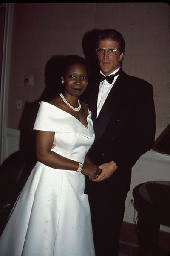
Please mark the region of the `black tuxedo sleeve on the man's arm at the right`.
POLYGON ((153 102, 153 87, 147 86, 139 90, 136 105, 133 110, 133 139, 114 154, 113 161, 121 169, 130 169, 139 157, 149 151, 155 138, 155 107, 153 102))

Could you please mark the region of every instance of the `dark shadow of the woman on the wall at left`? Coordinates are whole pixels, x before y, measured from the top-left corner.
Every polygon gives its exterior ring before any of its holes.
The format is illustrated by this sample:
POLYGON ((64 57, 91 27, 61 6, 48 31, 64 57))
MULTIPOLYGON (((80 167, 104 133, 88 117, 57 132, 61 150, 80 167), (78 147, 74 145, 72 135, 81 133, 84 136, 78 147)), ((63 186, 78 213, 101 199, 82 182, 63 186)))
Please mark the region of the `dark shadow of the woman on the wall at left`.
POLYGON ((35 102, 26 102, 19 123, 20 150, 35 157, 35 132, 33 130, 40 101, 49 101, 62 90, 60 78, 65 56, 53 56, 45 65, 45 89, 35 102))

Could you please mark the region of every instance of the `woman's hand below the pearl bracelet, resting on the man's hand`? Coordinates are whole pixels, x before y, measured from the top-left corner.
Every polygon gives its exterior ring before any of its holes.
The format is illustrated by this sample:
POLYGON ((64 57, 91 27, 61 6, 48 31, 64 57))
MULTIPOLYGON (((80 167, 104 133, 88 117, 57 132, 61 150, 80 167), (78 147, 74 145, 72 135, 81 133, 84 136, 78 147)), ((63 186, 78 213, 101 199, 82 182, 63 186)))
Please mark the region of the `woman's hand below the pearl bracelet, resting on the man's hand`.
POLYGON ((99 177, 100 173, 101 173, 101 169, 99 168, 99 166, 96 166, 93 163, 84 163, 82 171, 81 171, 84 175, 88 175, 90 179, 96 179, 97 177, 99 177))

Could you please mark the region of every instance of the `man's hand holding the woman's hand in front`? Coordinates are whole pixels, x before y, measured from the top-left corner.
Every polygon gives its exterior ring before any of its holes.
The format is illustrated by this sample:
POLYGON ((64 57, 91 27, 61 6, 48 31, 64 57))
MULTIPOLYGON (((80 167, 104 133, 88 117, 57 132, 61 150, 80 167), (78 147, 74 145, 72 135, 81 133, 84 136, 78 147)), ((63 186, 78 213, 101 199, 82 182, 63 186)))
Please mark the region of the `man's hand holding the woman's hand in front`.
POLYGON ((116 169, 118 169, 118 166, 116 166, 115 162, 111 161, 109 163, 103 163, 102 165, 99 166, 99 168, 102 170, 102 172, 100 173, 100 176, 98 178, 93 180, 95 182, 99 182, 111 177, 113 172, 115 172, 116 169))

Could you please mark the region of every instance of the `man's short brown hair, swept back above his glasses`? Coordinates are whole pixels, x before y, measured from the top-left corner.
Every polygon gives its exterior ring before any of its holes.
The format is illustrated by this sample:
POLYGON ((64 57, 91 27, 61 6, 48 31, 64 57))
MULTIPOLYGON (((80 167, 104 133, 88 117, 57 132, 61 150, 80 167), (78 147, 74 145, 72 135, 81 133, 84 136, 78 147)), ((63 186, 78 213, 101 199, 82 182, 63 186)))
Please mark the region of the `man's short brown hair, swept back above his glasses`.
POLYGON ((97 38, 96 38, 96 46, 99 46, 99 42, 102 40, 111 39, 113 41, 116 41, 119 43, 119 51, 120 54, 122 52, 125 52, 125 41, 121 35, 120 32, 114 30, 114 29, 104 29, 99 32, 97 38))

